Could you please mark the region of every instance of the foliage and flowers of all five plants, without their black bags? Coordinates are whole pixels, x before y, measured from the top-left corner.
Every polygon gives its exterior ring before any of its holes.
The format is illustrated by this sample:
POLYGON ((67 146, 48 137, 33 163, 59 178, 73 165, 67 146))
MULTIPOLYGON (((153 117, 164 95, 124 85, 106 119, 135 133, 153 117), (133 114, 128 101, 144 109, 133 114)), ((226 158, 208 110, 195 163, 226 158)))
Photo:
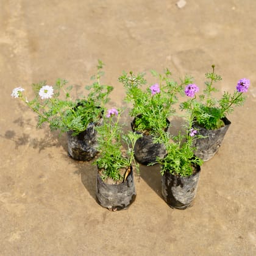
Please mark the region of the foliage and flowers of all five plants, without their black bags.
MULTIPOLYGON (((24 95, 24 88, 17 87, 12 91, 13 98, 20 98, 29 108, 38 114, 38 126, 49 123, 52 130, 60 132, 73 132, 73 135, 87 129, 88 124, 97 123, 103 119, 101 126, 95 129, 98 132, 98 158, 94 161, 102 170, 102 179, 110 178, 114 182, 124 179, 120 170, 135 165, 133 149, 135 143, 143 135, 152 135, 154 143, 164 143, 166 155, 157 158, 161 165, 161 172, 171 172, 177 176, 185 177, 193 174, 196 165, 202 165, 202 160, 194 155, 193 140, 201 138, 193 124, 199 124, 208 130, 224 126, 222 119, 233 112, 235 106, 244 104, 244 93, 249 88, 248 79, 240 79, 233 94, 225 91, 220 99, 213 93, 218 88, 214 86, 221 80, 221 76, 212 72, 206 73, 205 89, 199 96, 200 89, 193 84, 192 77, 185 76, 180 83, 172 80, 169 69, 158 74, 151 71, 152 76, 158 79, 157 84, 148 85, 144 73, 134 74, 123 72, 119 82, 126 89, 127 102, 132 104, 130 116, 134 118, 135 132, 124 133, 120 124, 122 110, 109 108, 106 104, 113 87, 101 85, 104 64, 99 60, 96 76, 92 85, 85 87, 87 93, 73 100, 71 97, 72 86, 66 80, 58 79, 54 86, 46 82, 33 84, 35 98, 30 100, 24 95), (187 101, 179 104, 178 94, 186 95, 187 101), (179 104, 181 110, 188 114, 185 134, 177 136, 168 133, 168 118, 174 115, 175 105, 179 104), (138 135, 140 133, 140 135, 138 135), (124 146, 124 144, 126 146, 124 146)), ((154 163, 151 163, 154 164, 154 163)))

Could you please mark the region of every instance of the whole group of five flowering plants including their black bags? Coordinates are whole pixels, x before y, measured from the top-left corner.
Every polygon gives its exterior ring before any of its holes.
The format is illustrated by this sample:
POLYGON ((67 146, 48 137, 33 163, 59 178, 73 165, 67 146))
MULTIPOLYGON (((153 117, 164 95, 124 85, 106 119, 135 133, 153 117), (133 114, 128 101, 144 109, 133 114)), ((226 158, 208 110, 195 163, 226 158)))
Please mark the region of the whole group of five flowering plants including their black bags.
POLYGON ((51 130, 65 132, 68 154, 76 160, 89 161, 97 166, 96 199, 109 210, 129 207, 135 200, 133 169, 139 164, 159 164, 162 174, 162 195, 173 208, 185 209, 193 204, 204 161, 216 154, 230 126, 227 115, 235 106, 243 105, 249 80, 240 79, 233 94, 224 92, 220 99, 213 93, 221 77, 205 74, 207 82, 200 88, 190 76, 180 83, 172 80, 171 72, 152 71, 158 83, 146 86, 145 74, 123 73, 119 77, 126 89, 127 102, 132 104, 129 115, 131 129, 124 132, 122 108, 107 108, 113 87, 101 85, 103 63, 92 85, 85 87, 86 95, 71 98, 72 87, 58 79, 55 86, 45 82, 32 85, 35 98, 28 99, 24 88, 15 88, 13 98, 20 98, 38 114, 38 126, 49 123, 51 130), (145 88, 146 87, 146 88, 145 88), (186 101, 181 99, 187 97, 186 101), (168 132, 175 107, 184 112, 185 126, 177 135, 168 132))

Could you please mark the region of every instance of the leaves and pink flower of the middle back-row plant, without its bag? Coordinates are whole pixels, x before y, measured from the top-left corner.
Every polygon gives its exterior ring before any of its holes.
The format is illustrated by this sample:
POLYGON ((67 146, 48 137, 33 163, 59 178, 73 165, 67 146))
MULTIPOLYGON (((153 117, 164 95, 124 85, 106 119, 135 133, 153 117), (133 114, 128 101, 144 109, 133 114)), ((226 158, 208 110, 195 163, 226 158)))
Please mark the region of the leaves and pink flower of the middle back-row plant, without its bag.
POLYGON ((191 77, 186 76, 180 84, 171 79, 171 72, 166 69, 164 74, 151 71, 158 77, 159 83, 143 90, 147 84, 145 74, 123 72, 119 82, 126 88, 126 101, 132 102, 130 116, 135 118, 135 130, 150 135, 158 135, 168 127, 166 119, 174 112, 173 104, 177 102, 177 93, 183 90, 183 85, 190 84, 191 77))

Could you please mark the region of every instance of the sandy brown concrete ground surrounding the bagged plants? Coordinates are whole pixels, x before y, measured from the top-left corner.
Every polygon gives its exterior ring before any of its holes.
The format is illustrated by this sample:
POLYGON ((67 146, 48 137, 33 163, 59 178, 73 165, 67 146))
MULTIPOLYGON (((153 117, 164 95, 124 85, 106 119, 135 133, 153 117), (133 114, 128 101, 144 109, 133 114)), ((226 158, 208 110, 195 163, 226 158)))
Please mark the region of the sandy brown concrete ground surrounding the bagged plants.
POLYGON ((1 0, 0 255, 256 255, 256 2, 187 0, 179 9, 177 1, 1 0), (123 70, 169 68, 202 86, 215 64, 221 92, 251 80, 218 154, 202 166, 193 207, 169 208, 158 166, 141 166, 130 208, 102 208, 96 167, 69 158, 65 136, 37 129, 35 113, 10 97, 59 77, 76 96, 98 59, 115 87, 112 107, 122 105, 123 70))

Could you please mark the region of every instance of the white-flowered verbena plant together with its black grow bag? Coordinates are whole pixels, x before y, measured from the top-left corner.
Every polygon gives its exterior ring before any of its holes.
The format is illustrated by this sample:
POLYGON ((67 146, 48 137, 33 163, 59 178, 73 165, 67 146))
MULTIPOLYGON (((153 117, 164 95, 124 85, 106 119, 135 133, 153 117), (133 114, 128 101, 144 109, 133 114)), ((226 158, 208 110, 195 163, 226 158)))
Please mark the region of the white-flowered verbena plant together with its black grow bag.
POLYGON ((38 127, 49 123, 51 130, 66 132, 68 136, 68 153, 76 160, 91 160, 96 154, 96 130, 102 122, 102 110, 108 102, 112 86, 101 85, 103 63, 98 61, 98 72, 92 77, 92 85, 85 87, 86 96, 71 98, 72 86, 63 79, 57 79, 54 86, 46 82, 33 84, 35 98, 29 100, 24 95, 24 88, 12 91, 13 98, 20 98, 38 115, 38 127))

